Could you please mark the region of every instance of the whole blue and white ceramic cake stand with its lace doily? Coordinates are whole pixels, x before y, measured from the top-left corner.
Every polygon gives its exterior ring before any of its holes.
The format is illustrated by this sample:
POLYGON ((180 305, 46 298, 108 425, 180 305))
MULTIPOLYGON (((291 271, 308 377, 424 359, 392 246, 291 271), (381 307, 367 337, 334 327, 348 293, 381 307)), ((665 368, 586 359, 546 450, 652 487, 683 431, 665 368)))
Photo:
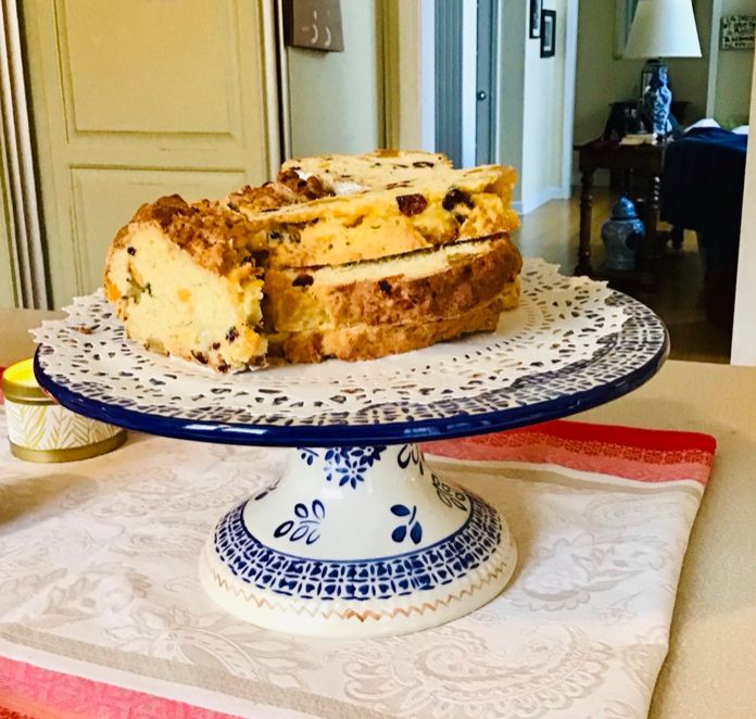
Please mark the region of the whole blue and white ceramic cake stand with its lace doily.
POLYGON ((220 518, 200 581, 245 621, 320 636, 433 627, 499 594, 516 548, 420 441, 563 417, 650 379, 668 352, 647 307, 527 261, 493 333, 364 363, 218 376, 124 336, 102 293, 37 330, 39 383, 80 414, 189 440, 292 447, 281 477, 220 518))

